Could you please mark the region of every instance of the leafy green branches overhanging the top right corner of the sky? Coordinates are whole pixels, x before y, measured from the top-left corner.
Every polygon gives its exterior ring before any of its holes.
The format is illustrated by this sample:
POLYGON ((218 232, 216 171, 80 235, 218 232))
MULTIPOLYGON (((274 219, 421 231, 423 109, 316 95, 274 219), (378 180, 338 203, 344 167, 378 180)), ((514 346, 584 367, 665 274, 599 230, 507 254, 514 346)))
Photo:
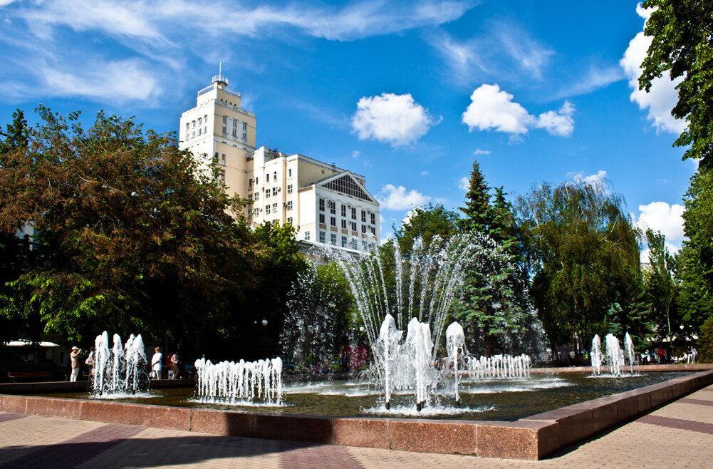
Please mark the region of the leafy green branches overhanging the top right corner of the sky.
POLYGON ((713 1, 647 0, 654 9, 644 32, 652 42, 642 63, 639 88, 649 91, 652 80, 666 72, 682 79, 676 86, 678 103, 671 111, 688 128, 677 146, 688 146, 684 158, 700 158, 699 167, 713 168, 713 1))

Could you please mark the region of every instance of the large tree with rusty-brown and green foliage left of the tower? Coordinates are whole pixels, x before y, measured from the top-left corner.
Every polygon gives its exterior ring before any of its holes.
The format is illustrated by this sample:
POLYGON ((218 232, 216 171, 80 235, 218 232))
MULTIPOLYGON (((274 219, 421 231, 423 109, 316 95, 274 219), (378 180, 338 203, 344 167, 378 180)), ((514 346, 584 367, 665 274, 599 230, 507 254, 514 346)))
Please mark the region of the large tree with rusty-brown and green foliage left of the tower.
POLYGON ((92 338, 193 338, 255 281, 238 201, 175 138, 99 113, 83 129, 40 106, 26 148, 2 155, 0 232, 36 228, 39 265, 9 283, 6 317, 39 312, 46 331, 92 338))

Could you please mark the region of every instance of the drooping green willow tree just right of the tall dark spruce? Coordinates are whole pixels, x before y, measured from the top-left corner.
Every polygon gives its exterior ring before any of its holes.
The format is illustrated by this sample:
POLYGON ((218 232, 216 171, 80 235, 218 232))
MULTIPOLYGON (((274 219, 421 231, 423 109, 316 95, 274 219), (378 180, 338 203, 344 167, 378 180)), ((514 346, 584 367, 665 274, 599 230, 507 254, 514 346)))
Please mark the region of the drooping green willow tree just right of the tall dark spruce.
POLYGON ((519 213, 534 261, 530 294, 553 350, 625 327, 640 267, 624 198, 603 184, 543 183, 519 198, 519 213))

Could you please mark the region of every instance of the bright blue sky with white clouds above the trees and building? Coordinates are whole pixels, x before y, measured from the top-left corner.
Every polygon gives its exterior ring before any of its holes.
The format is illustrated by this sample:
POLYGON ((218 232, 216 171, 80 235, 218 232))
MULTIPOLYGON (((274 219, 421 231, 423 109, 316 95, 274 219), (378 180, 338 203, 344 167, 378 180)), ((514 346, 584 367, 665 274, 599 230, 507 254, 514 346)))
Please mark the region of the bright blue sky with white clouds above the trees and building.
POLYGON ((633 1, 0 0, 0 122, 41 103, 177 131, 218 61, 257 144, 366 176, 384 238, 409 208, 462 206, 473 159, 512 200, 606 178, 635 221, 682 238, 695 170, 673 84, 632 83, 633 1))

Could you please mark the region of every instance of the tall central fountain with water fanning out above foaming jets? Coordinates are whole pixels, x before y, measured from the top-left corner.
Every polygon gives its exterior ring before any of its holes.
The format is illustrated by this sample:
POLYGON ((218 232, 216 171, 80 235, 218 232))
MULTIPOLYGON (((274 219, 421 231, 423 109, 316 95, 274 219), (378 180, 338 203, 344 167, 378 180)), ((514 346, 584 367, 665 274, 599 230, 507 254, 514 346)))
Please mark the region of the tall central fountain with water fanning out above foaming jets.
MULTIPOLYGON (((460 405, 458 363, 467 358, 463 328, 452 323, 448 326, 450 333, 446 331, 453 373, 448 373, 448 366, 442 372, 436 369, 438 344, 466 268, 478 261, 501 261, 501 255, 490 238, 435 236, 429 244, 417 238, 409 253, 401 253, 399 243, 394 241, 384 251, 359 261, 340 259, 374 352, 371 373, 381 383, 387 410, 394 390, 410 390, 416 409, 423 409, 430 405, 439 383, 451 374, 453 396, 460 405), (402 342, 404 328, 406 338, 402 342)), ((503 365, 502 357, 497 363, 503 365)), ((511 368, 520 366, 523 370, 523 360, 517 363, 511 368)))

